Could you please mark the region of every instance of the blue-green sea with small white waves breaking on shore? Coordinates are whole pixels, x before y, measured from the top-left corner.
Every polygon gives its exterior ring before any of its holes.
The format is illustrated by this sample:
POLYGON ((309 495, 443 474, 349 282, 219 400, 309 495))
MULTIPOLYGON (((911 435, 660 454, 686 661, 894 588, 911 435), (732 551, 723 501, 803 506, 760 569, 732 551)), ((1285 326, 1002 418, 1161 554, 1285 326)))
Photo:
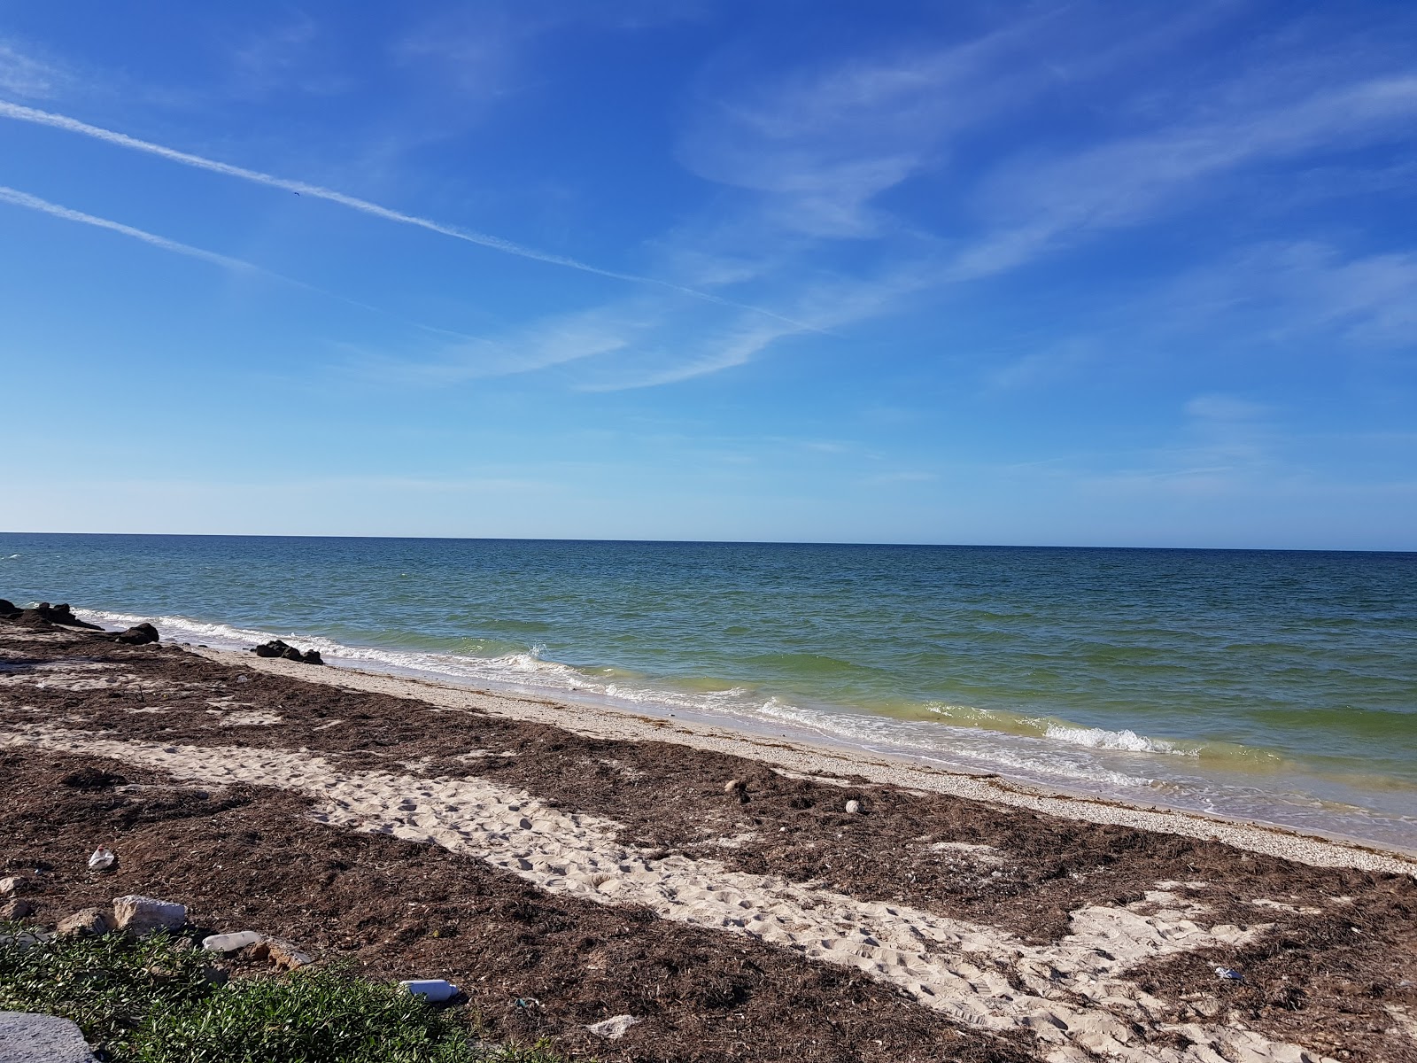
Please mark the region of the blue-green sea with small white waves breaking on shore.
POLYGON ((1417 554, 0 533, 0 597, 1417 848, 1417 554))

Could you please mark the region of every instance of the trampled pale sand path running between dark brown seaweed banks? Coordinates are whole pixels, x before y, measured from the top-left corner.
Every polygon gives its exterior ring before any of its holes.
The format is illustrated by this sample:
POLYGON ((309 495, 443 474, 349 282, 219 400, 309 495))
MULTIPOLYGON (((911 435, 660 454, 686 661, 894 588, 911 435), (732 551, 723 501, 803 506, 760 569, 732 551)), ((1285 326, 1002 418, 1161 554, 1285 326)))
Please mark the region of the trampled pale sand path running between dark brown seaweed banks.
POLYGON ((0 747, 88 753, 205 785, 249 782, 300 792, 315 799, 316 818, 332 825, 436 843, 551 893, 646 906, 667 920, 751 934, 891 982, 921 1005, 971 1025, 1032 1029, 1053 1063, 1085 1063, 1090 1053, 1127 1063, 1319 1059, 1246 1029, 1236 1013, 1217 1025, 1168 1022, 1175 1009, 1125 977, 1152 957, 1238 945, 1263 933, 1263 926, 1197 923, 1204 907, 1165 889, 1175 883, 1159 883, 1127 907, 1080 909, 1071 913, 1068 937, 1037 947, 995 927, 734 872, 716 860, 655 859, 618 845, 619 825, 612 821, 567 814, 476 777, 350 772, 305 751, 119 741, 45 724, 0 731, 0 747), (1135 1022, 1159 1023, 1192 1043, 1146 1045, 1135 1022))

